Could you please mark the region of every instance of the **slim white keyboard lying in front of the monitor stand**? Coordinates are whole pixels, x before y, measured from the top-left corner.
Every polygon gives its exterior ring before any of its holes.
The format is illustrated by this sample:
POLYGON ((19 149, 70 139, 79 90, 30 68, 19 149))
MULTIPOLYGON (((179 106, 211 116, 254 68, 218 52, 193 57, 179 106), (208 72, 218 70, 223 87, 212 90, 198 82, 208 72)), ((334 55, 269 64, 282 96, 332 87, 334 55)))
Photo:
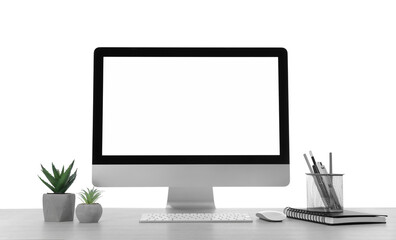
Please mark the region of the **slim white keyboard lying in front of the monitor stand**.
POLYGON ((140 218, 141 223, 202 223, 202 222, 253 222, 244 213, 147 213, 140 218))

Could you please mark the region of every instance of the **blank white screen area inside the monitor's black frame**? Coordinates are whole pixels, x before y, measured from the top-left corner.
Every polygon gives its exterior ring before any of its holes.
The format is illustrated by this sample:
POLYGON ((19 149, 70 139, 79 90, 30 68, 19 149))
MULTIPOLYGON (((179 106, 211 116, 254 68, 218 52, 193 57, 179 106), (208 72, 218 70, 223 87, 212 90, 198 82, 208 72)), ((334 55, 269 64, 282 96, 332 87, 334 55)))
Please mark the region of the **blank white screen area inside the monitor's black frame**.
POLYGON ((279 155, 276 57, 105 57, 103 155, 279 155))

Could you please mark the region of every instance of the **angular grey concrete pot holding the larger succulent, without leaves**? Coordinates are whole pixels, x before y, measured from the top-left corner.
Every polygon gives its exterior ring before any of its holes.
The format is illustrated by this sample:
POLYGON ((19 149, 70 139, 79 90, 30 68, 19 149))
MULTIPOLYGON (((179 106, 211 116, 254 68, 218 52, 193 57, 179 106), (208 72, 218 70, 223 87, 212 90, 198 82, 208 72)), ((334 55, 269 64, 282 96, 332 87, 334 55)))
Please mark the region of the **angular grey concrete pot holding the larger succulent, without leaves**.
POLYGON ((73 193, 43 194, 43 212, 46 222, 73 221, 76 195, 73 193))

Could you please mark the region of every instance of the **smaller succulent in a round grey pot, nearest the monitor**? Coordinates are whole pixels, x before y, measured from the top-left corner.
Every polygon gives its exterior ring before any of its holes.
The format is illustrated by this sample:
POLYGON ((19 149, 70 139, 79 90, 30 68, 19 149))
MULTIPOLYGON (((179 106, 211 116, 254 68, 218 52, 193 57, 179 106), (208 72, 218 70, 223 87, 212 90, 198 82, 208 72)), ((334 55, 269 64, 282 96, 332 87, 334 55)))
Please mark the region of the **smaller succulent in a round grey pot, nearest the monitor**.
POLYGON ((102 196, 102 192, 92 187, 82 190, 80 199, 83 203, 77 205, 76 215, 81 223, 97 223, 102 216, 102 206, 96 201, 102 196))

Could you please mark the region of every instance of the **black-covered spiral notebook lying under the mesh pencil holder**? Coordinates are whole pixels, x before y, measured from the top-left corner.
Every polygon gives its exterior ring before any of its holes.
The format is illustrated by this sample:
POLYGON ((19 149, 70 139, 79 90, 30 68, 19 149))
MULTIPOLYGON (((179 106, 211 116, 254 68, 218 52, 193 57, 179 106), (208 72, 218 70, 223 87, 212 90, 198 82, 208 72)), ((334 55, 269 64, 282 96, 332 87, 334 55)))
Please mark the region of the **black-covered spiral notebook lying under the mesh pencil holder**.
POLYGON ((313 212, 306 209, 286 207, 283 212, 289 218, 328 225, 386 223, 387 215, 369 214, 344 210, 342 213, 313 212))

